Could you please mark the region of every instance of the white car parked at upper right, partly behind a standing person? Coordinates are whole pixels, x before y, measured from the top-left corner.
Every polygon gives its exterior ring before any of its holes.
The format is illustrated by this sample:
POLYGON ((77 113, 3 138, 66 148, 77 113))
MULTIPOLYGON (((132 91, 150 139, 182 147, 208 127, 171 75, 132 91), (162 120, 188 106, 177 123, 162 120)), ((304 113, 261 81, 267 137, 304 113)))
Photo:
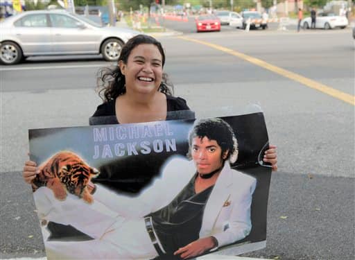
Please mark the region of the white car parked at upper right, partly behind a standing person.
MULTIPOLYGON (((332 12, 320 12, 315 19, 315 28, 325 30, 333 28, 345 28, 349 24, 347 17, 335 15, 332 12)), ((301 21, 301 26, 304 29, 311 28, 311 17, 306 17, 301 21)))

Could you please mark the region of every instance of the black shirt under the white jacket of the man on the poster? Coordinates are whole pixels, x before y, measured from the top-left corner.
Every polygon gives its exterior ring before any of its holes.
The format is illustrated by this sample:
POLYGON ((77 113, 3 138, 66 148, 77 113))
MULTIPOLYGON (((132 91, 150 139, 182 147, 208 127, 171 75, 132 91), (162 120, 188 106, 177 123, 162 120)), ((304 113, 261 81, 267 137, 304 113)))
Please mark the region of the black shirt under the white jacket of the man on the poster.
POLYGON ((148 215, 167 254, 199 239, 203 212, 214 186, 196 193, 196 176, 167 206, 148 215))

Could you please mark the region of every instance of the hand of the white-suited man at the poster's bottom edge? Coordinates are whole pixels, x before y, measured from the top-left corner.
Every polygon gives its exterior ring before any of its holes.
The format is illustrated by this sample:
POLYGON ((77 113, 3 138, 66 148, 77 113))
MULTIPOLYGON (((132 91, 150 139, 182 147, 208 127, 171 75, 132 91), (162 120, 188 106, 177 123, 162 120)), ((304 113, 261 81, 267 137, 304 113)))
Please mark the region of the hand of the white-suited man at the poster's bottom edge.
POLYGON ((187 259, 191 257, 196 257, 200 254, 203 254, 211 248, 215 248, 216 243, 212 236, 206 237, 205 239, 198 239, 185 245, 184 248, 179 248, 174 252, 174 255, 180 254, 182 259, 187 259))

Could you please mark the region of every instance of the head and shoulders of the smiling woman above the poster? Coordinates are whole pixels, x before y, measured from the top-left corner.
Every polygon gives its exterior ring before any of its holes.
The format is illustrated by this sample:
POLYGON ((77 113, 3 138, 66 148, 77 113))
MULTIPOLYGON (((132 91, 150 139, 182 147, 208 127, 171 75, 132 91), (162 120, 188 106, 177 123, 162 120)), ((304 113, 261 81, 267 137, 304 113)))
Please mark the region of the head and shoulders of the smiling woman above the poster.
POLYGON ((105 123, 139 123, 169 120, 168 112, 189 110, 184 99, 172 96, 164 64, 164 49, 155 38, 137 35, 129 40, 117 66, 98 73, 103 104, 94 119, 111 116, 105 123))

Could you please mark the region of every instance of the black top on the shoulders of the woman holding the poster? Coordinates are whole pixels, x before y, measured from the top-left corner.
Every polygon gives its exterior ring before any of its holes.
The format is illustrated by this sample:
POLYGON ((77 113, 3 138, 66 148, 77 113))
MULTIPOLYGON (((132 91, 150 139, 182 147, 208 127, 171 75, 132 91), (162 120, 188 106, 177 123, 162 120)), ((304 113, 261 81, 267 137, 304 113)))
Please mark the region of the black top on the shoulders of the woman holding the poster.
MULTIPOLYGON (((89 118, 90 125, 109 125, 119 123, 116 118, 115 101, 111 100, 99 105, 89 118)), ((195 119, 195 113, 190 110, 184 98, 166 95, 166 120, 195 119)))

